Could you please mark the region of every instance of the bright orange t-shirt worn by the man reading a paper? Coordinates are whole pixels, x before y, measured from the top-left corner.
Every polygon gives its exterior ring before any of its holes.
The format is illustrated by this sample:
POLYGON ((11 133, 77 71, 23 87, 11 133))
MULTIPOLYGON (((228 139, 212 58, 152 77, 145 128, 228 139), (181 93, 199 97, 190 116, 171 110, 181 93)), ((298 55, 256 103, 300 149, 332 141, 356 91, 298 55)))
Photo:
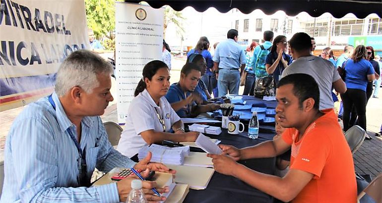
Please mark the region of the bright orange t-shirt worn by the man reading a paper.
POLYGON ((290 169, 312 173, 313 179, 292 203, 355 203, 357 183, 353 156, 333 109, 314 121, 298 140, 289 128, 283 140, 292 145, 290 169))

